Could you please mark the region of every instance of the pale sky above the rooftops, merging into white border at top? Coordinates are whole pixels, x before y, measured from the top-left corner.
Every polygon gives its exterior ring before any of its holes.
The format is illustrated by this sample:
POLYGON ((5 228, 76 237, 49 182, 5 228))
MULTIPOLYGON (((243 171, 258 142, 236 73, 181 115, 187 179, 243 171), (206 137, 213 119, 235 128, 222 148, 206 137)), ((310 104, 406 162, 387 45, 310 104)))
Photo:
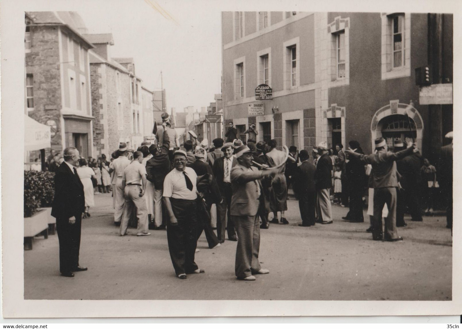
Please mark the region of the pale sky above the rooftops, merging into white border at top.
POLYGON ((148 2, 97 0, 69 10, 80 14, 88 33, 112 33, 111 57, 133 57, 147 89, 160 90, 163 72, 168 112, 207 106, 221 91, 219 8, 202 11, 189 1, 152 1, 153 7, 148 2))

